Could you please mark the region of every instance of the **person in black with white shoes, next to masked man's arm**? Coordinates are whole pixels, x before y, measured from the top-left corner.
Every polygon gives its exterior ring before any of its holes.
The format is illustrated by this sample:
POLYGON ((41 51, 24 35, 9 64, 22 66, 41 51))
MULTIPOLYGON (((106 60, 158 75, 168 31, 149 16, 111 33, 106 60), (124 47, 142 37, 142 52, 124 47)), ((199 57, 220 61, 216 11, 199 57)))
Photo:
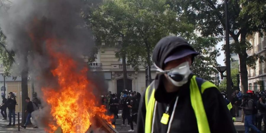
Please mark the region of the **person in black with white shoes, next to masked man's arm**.
POLYGON ((131 115, 130 115, 131 117, 129 119, 131 129, 128 132, 134 132, 133 121, 137 124, 139 104, 140 104, 140 99, 137 98, 137 96, 133 92, 132 100, 130 101, 130 105, 128 105, 128 107, 131 108, 131 115))

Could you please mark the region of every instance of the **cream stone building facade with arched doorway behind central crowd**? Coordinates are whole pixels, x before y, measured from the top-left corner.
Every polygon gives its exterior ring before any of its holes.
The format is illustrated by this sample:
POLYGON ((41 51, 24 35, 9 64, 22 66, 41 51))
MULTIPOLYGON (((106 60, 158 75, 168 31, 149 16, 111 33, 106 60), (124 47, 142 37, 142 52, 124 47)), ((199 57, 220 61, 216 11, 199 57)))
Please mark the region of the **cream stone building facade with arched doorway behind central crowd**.
MULTIPOLYGON (((139 66, 135 71, 130 65, 126 66, 127 70, 127 88, 124 88, 123 65, 122 61, 115 57, 117 48, 102 47, 100 48, 95 62, 88 62, 90 70, 93 72, 102 72, 105 84, 108 85, 108 91, 112 93, 121 93, 122 90, 132 90, 142 93, 146 88, 145 67, 139 66)), ((86 57, 85 57, 85 61, 86 57)), ((155 78, 155 66, 151 66, 152 80, 155 78)))

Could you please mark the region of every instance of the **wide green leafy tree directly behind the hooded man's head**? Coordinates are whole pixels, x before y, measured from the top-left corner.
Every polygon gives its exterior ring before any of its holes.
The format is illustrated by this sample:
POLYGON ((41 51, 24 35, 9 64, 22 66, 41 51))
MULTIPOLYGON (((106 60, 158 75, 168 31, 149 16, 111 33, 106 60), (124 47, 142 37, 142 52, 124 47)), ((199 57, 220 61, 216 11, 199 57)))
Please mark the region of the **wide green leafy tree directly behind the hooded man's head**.
POLYGON ((181 35, 193 32, 192 25, 186 25, 178 18, 165 0, 107 0, 94 12, 94 16, 103 18, 92 19, 92 28, 97 30, 94 33, 102 35, 96 40, 100 43, 114 38, 111 40, 115 41, 121 35, 122 46, 116 57, 122 58, 122 61, 126 57, 127 63, 135 70, 140 65, 149 66, 150 82, 151 55, 155 44, 170 33, 181 35))

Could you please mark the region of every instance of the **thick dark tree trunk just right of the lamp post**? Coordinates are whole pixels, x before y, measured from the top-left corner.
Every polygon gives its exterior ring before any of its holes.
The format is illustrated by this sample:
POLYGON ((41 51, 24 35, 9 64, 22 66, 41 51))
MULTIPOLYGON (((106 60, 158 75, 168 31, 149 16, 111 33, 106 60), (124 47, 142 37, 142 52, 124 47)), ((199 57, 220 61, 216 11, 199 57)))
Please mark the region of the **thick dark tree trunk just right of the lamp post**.
MULTIPOLYGON (((246 45, 246 34, 241 33, 240 44, 246 45)), ((239 63, 240 63, 240 76, 241 76, 241 89, 245 93, 248 90, 248 72, 246 67, 247 59, 246 48, 241 50, 239 54, 239 63)))

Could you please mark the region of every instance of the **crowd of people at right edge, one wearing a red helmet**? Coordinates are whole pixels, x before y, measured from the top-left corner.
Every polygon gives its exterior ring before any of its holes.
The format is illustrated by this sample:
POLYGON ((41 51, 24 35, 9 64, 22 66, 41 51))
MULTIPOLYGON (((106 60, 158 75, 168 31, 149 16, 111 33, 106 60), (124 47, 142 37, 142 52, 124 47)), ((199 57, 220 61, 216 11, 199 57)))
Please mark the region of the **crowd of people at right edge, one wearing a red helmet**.
MULTIPOLYGON (((225 93, 222 93, 225 94, 225 93)), ((224 95, 226 99, 226 96, 224 95)), ((251 128, 252 132, 260 133, 262 131, 262 120, 266 121, 266 91, 260 91, 254 93, 252 90, 248 90, 242 94, 239 91, 232 93, 232 108, 229 108, 233 119, 239 117, 239 110, 243 108, 244 111, 244 126, 245 132, 249 132, 251 128)), ((264 133, 266 133, 264 126, 264 133)))

